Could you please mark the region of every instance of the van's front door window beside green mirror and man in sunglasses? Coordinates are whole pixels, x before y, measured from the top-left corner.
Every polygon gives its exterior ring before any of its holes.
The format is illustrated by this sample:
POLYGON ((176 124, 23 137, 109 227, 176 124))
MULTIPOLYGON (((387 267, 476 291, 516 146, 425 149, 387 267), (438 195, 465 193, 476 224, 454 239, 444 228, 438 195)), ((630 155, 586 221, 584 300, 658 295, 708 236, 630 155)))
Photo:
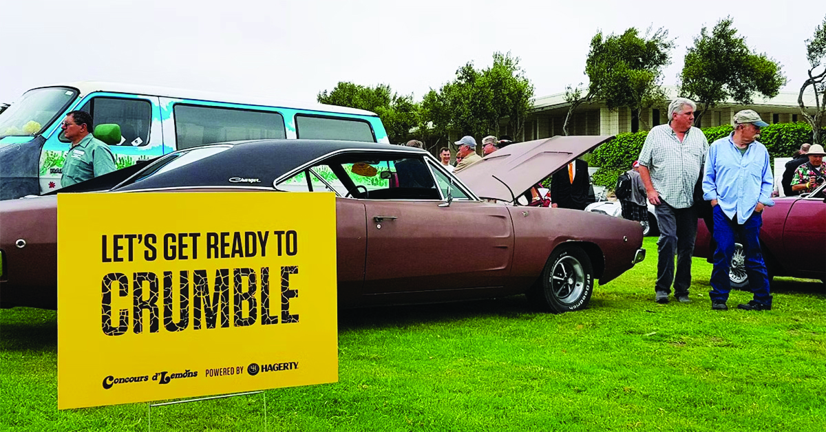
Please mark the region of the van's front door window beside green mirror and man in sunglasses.
MULTIPOLYGON (((127 99, 123 97, 93 97, 80 111, 92 115, 94 127, 105 123, 121 126, 120 145, 147 145, 152 123, 152 104, 145 99, 127 99)), ((69 142, 60 132, 59 139, 69 142)))

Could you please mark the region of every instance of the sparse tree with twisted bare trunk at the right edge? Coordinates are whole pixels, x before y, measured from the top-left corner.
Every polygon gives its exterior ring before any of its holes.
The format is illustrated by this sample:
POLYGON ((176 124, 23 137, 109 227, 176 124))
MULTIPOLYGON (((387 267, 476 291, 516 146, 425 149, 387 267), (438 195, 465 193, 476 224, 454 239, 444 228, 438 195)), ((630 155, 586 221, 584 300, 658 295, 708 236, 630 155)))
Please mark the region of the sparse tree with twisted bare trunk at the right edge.
POLYGON ((826 117, 826 17, 824 17, 823 24, 814 28, 814 36, 806 40, 806 59, 809 60, 811 68, 808 70, 809 78, 806 78, 803 86, 800 87, 797 104, 800 105, 800 112, 806 122, 812 126, 812 143, 820 144, 823 133, 820 128, 826 117), (814 70, 820 66, 824 69, 820 74, 816 74, 814 70), (814 114, 809 114, 803 103, 803 94, 809 86, 812 87, 812 93, 814 93, 814 114))

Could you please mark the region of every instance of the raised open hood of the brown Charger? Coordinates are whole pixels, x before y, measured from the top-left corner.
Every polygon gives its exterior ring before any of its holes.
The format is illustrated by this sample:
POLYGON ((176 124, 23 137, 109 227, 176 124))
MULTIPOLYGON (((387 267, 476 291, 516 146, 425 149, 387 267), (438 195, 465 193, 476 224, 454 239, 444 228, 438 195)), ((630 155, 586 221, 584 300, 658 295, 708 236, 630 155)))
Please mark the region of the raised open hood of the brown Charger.
POLYGON ((512 202, 534 184, 611 138, 613 135, 554 136, 511 144, 463 169, 456 177, 478 197, 512 202))

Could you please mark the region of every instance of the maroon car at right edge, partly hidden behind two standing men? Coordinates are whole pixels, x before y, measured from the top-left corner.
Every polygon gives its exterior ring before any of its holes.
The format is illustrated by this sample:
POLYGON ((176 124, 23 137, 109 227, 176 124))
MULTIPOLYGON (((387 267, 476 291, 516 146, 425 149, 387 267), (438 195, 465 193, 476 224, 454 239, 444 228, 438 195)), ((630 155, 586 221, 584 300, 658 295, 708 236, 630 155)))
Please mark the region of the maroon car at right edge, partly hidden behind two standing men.
MULTIPOLYGON (((826 283, 826 184, 800 197, 774 198, 763 210, 760 244, 769 279, 775 276, 820 279, 826 283)), ((711 236, 705 222, 697 225, 694 255, 710 258, 711 236)), ((734 244, 729 278, 732 287, 748 286, 743 246, 734 244)))

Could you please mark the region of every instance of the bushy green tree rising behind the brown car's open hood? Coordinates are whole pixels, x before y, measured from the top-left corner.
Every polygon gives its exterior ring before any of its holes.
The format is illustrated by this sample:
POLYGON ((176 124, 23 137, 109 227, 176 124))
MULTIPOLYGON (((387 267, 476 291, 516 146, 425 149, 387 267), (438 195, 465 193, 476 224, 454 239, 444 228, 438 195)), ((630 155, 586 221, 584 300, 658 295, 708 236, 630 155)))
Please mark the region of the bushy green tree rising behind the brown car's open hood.
POLYGON ((506 124, 521 135, 534 97, 534 85, 525 78, 519 58, 493 55, 493 64, 476 69, 472 62, 456 71, 456 78, 439 91, 427 93, 421 103, 421 121, 439 135, 499 135, 506 124))

